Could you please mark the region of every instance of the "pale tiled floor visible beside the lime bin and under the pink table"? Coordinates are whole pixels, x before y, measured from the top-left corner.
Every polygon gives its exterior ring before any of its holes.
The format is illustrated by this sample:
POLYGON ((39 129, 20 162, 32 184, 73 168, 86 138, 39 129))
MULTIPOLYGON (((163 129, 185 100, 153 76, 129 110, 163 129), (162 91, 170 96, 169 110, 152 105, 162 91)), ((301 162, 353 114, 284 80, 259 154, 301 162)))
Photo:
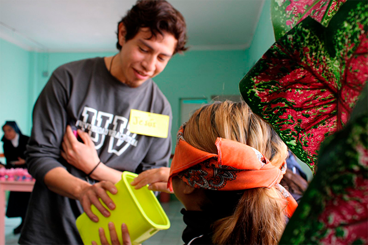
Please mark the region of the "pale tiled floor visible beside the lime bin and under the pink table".
MULTIPOLYGON (((159 231, 154 236, 143 242, 144 245, 181 245, 184 242, 181 240, 181 233, 186 225, 182 221, 182 214, 180 213, 182 204, 177 200, 171 200, 168 203, 163 203, 166 214, 171 223, 170 229, 166 231, 159 231)), ((6 218, 5 219, 5 244, 18 244, 19 234, 14 235, 13 229, 20 224, 20 218, 6 218)))

